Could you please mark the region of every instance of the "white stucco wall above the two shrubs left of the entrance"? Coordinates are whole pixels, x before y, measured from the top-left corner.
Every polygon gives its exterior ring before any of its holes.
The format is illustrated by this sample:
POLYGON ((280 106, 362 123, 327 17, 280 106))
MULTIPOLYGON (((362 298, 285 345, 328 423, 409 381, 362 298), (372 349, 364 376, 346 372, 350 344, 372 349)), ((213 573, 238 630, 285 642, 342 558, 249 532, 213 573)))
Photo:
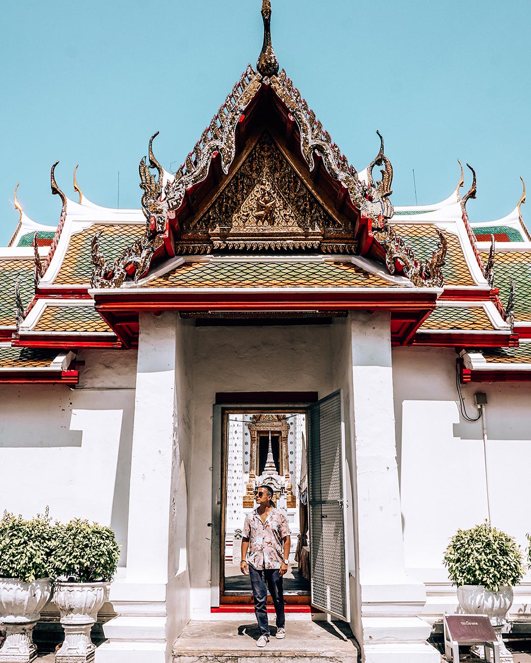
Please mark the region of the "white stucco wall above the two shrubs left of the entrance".
POLYGON ((78 354, 80 381, 0 385, 0 511, 111 526, 127 552, 136 352, 78 354))

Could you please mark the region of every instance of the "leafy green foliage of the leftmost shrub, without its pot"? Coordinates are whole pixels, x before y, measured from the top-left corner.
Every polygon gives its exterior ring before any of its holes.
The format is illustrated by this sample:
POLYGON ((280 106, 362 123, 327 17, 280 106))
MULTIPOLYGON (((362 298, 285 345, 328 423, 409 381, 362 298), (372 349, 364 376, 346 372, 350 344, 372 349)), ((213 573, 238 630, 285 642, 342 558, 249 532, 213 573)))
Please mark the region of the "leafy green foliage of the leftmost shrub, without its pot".
POLYGON ((56 527, 43 516, 31 520, 4 511, 0 520, 0 577, 23 582, 50 577, 56 527))

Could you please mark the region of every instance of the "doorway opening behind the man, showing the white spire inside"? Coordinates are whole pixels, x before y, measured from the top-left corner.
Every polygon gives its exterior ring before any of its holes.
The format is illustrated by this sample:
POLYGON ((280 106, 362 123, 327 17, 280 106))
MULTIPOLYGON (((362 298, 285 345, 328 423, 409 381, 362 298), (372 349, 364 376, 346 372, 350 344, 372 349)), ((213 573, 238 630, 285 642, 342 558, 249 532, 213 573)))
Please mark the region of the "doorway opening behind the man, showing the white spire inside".
POLYGON ((286 603, 310 603, 307 410, 241 410, 222 413, 222 537, 220 603, 252 603, 248 575, 240 572, 246 514, 255 508, 256 485, 273 488, 275 505, 291 530, 286 603))

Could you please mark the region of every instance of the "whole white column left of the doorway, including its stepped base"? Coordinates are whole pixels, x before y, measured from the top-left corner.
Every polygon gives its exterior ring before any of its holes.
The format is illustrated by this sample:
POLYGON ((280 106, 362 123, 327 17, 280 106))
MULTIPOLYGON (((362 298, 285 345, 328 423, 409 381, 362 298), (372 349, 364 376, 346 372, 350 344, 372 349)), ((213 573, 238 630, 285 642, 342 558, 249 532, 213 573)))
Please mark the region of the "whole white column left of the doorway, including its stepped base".
POLYGON ((139 316, 127 568, 125 579, 111 586, 110 602, 118 616, 104 626, 109 639, 96 649, 96 663, 171 660, 166 605, 177 444, 177 324, 175 313, 139 316))

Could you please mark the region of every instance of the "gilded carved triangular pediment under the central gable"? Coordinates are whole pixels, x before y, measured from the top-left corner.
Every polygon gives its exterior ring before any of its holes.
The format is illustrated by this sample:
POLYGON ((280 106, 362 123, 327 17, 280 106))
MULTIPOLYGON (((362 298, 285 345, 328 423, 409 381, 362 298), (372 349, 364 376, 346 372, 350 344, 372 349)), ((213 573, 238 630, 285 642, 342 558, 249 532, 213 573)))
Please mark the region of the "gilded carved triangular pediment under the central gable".
POLYGON ((325 208, 264 133, 210 206, 185 221, 175 252, 355 253, 352 235, 350 221, 325 208))

